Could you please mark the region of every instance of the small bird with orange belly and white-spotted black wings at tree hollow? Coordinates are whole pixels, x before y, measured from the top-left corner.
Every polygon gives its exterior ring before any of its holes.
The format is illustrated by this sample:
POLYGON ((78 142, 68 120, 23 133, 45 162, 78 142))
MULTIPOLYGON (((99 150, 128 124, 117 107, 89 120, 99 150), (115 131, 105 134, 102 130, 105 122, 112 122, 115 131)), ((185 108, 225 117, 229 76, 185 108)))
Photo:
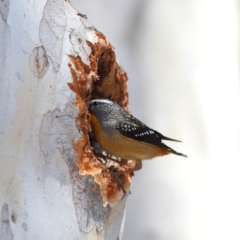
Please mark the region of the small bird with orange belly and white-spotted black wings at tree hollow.
POLYGON ((180 141, 148 127, 109 99, 90 100, 88 110, 92 133, 100 147, 122 160, 135 160, 134 171, 142 168, 142 160, 170 153, 187 157, 163 143, 180 141))

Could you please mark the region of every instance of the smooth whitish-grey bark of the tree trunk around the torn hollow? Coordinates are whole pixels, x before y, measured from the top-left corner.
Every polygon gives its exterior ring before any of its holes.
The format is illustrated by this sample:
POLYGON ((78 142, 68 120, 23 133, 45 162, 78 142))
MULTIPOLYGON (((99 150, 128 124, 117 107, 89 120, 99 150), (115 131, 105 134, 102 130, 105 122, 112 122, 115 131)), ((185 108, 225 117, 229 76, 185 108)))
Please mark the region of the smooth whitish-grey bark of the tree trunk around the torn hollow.
POLYGON ((0 1, 1 240, 121 239, 126 197, 75 164, 68 55, 90 66, 86 41, 99 38, 63 0, 0 1))

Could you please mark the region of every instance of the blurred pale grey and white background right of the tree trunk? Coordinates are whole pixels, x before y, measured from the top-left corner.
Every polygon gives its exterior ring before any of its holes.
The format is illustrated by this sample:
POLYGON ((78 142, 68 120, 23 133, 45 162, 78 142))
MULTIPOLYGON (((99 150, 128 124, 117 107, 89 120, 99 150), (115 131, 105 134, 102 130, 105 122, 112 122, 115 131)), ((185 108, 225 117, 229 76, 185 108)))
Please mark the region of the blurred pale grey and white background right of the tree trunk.
POLYGON ((133 115, 188 155, 136 172, 123 240, 239 240, 239 1, 71 2, 116 48, 133 115))

